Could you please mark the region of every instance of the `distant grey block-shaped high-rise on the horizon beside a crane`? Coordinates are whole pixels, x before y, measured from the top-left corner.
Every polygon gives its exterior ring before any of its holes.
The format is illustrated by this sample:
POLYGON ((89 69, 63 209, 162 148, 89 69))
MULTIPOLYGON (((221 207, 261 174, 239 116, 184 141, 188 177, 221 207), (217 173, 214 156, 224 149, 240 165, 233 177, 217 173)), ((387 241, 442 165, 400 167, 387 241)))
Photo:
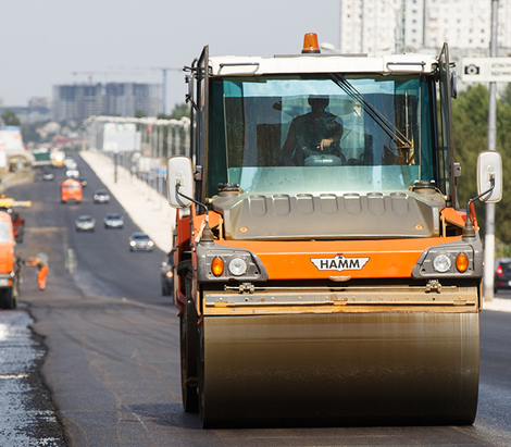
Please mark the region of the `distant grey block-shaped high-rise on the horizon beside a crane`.
POLYGON ((91 115, 135 116, 140 111, 157 116, 161 85, 109 83, 53 86, 53 120, 86 120, 91 115))

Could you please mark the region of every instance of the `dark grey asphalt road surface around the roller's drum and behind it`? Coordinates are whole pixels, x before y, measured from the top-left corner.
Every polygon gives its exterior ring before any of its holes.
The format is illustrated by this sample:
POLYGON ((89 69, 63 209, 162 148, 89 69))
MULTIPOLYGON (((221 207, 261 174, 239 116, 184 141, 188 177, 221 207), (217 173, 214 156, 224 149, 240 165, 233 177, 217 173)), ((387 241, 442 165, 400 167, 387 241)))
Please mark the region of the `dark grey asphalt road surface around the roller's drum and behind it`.
MULTIPOLYGON (((43 337, 38 339, 46 357, 29 361, 40 368, 46 384, 40 393, 50 392, 65 434, 53 444, 42 437, 25 443, 20 434, 12 446, 511 445, 511 313, 489 310, 481 318, 481 395, 473 426, 201 430, 198 417, 180 405, 177 312, 159 283, 164 253, 128 251, 127 238, 136 229, 128 216, 124 229, 103 228, 107 212, 124 211, 115 200, 92 203, 94 190, 103 185, 76 159, 89 182, 82 204, 60 202, 63 171, 55 170, 53 182, 36 175, 34 183, 9 190, 34 202, 23 211, 27 231, 20 251, 24 257, 46 252, 50 274, 47 289, 39 291, 35 271, 25 268, 22 305, 4 315, 29 315, 35 336, 43 337), (75 232, 80 214, 98 220, 95 233, 75 232)), ((29 412, 36 403, 24 405, 29 412)), ((54 423, 48 418, 49 426, 54 423)))

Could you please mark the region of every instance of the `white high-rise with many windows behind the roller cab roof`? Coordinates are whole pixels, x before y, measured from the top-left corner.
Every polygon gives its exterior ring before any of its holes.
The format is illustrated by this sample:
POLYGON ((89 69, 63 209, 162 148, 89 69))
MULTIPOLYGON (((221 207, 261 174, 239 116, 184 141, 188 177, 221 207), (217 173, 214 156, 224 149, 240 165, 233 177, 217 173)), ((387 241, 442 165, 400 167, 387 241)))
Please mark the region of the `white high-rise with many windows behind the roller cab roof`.
MULTIPOLYGON (((511 0, 498 2, 498 47, 511 48, 511 0)), ((490 0, 340 0, 344 53, 450 48, 484 53, 491 32, 490 0)))

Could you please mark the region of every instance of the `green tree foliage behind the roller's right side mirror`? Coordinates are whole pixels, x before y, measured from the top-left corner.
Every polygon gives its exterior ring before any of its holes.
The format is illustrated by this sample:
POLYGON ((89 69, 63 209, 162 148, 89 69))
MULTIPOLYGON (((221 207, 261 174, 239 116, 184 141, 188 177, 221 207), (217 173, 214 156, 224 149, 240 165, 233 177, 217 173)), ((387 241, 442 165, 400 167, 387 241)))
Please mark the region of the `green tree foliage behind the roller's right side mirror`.
MULTIPOLYGON (((470 198, 477 195, 475 172, 477 154, 487 149, 488 134, 488 89, 478 85, 458 95, 452 101, 452 127, 454 139, 454 159, 461 163, 462 176, 458 178, 458 197, 464 209, 470 198)), ((497 150, 506 161, 511 157, 511 88, 508 85, 502 97, 497 101, 497 150)), ((511 244, 511 195, 506 175, 503 176, 502 201, 496 204, 495 233, 506 246, 511 244)), ((485 206, 475 203, 477 222, 484 233, 485 206)))

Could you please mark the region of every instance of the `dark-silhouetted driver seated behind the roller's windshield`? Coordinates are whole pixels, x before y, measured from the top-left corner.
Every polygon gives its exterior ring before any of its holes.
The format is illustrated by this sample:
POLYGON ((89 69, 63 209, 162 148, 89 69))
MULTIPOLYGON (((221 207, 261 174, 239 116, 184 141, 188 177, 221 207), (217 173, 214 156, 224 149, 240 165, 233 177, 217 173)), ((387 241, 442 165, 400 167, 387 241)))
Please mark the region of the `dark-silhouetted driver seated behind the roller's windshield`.
POLYGON ((320 154, 336 156, 345 163, 339 146, 342 119, 326 111, 328 103, 327 96, 311 95, 311 112, 292 120, 282 150, 286 166, 303 166, 308 157, 320 154))

